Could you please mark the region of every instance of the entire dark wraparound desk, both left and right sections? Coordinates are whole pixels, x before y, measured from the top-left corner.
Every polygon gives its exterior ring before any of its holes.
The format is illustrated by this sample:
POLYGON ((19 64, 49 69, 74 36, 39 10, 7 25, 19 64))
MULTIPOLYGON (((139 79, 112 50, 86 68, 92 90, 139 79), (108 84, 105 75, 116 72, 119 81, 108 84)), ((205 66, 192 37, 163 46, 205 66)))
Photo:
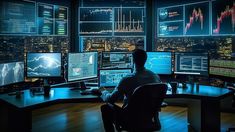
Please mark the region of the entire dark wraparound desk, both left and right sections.
MULTIPOLYGON (((232 90, 200 85, 199 89, 188 85, 178 88, 175 94, 167 92, 166 98, 186 98, 188 122, 196 131, 220 131, 220 100, 233 94, 232 90)), ((0 95, 0 130, 31 131, 32 110, 56 103, 101 101, 94 95, 81 95, 69 88, 54 88, 49 97, 32 96, 24 90, 21 98, 8 94, 0 95), (13 127, 14 126, 14 127, 13 127)))

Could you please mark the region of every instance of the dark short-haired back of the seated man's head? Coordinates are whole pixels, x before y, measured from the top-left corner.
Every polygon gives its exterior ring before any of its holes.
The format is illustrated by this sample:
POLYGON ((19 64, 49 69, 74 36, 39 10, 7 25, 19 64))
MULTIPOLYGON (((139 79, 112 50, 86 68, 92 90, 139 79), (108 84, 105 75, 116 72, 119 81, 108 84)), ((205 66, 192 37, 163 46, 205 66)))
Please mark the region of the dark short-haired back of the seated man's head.
POLYGON ((144 67, 147 60, 147 54, 142 49, 135 49, 132 53, 134 63, 139 67, 144 67))

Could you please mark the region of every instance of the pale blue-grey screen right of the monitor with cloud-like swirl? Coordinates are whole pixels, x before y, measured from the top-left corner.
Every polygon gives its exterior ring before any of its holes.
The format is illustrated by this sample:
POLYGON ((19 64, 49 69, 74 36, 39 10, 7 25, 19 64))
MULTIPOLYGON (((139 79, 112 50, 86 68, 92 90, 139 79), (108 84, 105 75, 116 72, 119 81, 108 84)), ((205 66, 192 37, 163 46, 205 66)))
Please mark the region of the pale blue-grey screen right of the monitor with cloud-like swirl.
POLYGON ((97 52, 69 53, 68 57, 68 81, 97 77, 97 52))

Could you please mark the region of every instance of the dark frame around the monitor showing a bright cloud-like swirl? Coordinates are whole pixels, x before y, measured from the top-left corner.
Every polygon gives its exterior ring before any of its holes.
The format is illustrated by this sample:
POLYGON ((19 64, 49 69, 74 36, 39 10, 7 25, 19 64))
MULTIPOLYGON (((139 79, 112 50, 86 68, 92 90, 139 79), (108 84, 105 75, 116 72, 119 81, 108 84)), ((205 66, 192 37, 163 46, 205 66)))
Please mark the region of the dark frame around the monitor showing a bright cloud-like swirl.
POLYGON ((62 71, 62 67, 63 67, 63 61, 62 61, 62 53, 61 52, 27 52, 26 53, 26 59, 25 59, 25 77, 27 78, 60 78, 63 77, 63 71, 62 71), (60 76, 28 76, 28 55, 29 54, 60 54, 60 62, 61 62, 61 66, 60 66, 60 76))

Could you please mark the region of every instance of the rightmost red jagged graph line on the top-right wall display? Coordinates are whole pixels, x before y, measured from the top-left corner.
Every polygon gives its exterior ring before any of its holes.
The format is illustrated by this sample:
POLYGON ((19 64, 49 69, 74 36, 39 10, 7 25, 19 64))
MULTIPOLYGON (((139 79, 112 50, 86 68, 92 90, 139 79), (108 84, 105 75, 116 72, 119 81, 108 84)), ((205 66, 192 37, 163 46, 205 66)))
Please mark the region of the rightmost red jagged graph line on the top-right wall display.
POLYGON ((229 5, 226 6, 225 11, 220 13, 220 17, 217 18, 217 28, 213 29, 213 33, 217 34, 220 32, 221 29, 221 23, 223 22, 223 19, 231 16, 231 22, 232 22, 232 27, 234 31, 235 27, 235 3, 233 3, 233 7, 229 8, 229 5))

